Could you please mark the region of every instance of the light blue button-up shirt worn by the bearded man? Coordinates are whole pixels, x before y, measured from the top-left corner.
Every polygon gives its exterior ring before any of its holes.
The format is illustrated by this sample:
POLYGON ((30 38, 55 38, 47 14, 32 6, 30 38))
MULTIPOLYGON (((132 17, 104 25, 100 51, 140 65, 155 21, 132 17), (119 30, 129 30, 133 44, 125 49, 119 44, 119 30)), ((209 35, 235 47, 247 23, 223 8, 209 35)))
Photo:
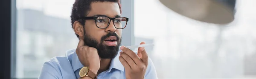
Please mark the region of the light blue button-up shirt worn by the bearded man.
MULTIPOLYGON (((126 79, 125 69, 117 56, 111 60, 110 68, 99 73, 98 79, 126 79)), ((137 53, 136 51, 134 51, 137 53)), ((65 56, 56 56, 44 62, 38 79, 78 79, 79 71, 84 67, 78 59, 76 49, 69 50, 65 56)), ((145 79, 158 79, 153 62, 148 57, 148 67, 145 79)))

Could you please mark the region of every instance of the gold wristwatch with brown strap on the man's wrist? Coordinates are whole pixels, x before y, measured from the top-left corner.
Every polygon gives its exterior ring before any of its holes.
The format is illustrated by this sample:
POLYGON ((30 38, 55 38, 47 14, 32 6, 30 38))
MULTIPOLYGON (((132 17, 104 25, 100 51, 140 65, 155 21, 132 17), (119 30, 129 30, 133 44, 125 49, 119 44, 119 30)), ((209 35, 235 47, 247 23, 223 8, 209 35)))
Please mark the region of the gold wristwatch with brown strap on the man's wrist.
POLYGON ((80 77, 85 77, 85 76, 89 76, 92 79, 97 79, 97 76, 95 73, 93 73, 89 67, 83 67, 81 68, 81 70, 79 71, 79 76, 80 77))

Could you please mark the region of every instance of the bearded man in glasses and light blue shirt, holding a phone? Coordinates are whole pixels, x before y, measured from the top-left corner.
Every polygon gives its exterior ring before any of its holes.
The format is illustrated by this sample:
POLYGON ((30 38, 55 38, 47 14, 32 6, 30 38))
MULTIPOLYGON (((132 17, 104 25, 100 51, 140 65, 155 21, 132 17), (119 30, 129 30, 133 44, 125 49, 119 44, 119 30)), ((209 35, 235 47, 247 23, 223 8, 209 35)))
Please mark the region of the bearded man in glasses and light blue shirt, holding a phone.
POLYGON ((121 12, 119 0, 76 0, 71 23, 78 46, 45 62, 39 79, 157 79, 143 47, 120 47, 128 22, 121 12))

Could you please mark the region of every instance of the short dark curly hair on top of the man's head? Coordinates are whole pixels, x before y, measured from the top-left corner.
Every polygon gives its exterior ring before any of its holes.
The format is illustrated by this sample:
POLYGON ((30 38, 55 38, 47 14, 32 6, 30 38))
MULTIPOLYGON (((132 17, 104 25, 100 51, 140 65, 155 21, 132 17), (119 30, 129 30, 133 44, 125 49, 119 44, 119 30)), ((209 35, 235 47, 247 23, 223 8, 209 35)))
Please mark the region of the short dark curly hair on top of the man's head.
MULTIPOLYGON (((75 3, 73 4, 71 16, 70 16, 73 29, 74 29, 73 24, 75 21, 78 21, 79 23, 81 23, 81 25, 84 25, 85 20, 81 19, 81 17, 87 16, 88 11, 90 11, 90 9, 91 9, 90 4, 93 2, 115 2, 115 3, 118 3, 120 12, 122 13, 120 0, 76 0, 75 3)), ((76 34, 76 37, 79 38, 79 35, 76 34)))

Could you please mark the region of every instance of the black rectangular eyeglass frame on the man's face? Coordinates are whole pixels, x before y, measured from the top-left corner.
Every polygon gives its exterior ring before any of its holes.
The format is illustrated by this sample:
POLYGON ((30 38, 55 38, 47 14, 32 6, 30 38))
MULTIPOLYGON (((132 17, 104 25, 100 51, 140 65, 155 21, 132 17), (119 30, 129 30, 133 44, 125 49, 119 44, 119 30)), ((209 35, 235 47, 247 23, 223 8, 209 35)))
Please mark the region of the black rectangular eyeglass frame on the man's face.
MULTIPOLYGON (((102 16, 93 16, 93 17, 82 17, 82 19, 84 19, 84 20, 94 20, 96 27, 99 28, 98 25, 97 25, 97 22, 96 22, 96 20, 97 20, 98 17, 108 17, 108 16, 102 15, 102 16)), ((115 26, 115 28, 116 28, 116 25, 115 25, 115 23, 114 23, 114 20, 115 20, 116 18, 120 18, 120 17, 114 17, 114 18, 108 17, 109 22, 108 22, 107 27, 105 27, 105 28, 108 28, 108 26, 109 26, 109 24, 111 23, 112 20, 113 20, 113 24, 114 24, 114 26, 115 26)), ((125 19, 126 19, 126 23, 125 23, 125 27, 126 27, 129 18, 128 18, 128 17, 122 17, 122 18, 125 18, 125 19)), ((125 28, 125 27, 124 27, 124 28, 125 28)), ((105 28, 102 28, 102 29, 105 29, 105 28)), ((124 29, 124 28, 116 28, 116 29, 124 29)))

